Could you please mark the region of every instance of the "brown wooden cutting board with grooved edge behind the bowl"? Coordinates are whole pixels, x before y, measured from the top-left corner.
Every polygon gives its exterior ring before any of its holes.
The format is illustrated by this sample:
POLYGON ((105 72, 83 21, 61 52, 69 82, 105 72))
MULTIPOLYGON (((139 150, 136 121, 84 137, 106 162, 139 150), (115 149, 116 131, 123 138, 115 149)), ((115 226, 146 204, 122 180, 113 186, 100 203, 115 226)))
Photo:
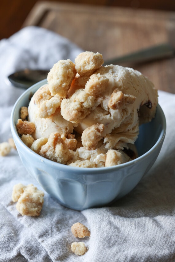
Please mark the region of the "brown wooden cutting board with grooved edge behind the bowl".
MULTIPOLYGON (((175 46, 175 12, 37 2, 23 27, 52 30, 104 60, 157 44, 175 46)), ((160 90, 175 93, 175 57, 126 64, 145 74, 160 90)))

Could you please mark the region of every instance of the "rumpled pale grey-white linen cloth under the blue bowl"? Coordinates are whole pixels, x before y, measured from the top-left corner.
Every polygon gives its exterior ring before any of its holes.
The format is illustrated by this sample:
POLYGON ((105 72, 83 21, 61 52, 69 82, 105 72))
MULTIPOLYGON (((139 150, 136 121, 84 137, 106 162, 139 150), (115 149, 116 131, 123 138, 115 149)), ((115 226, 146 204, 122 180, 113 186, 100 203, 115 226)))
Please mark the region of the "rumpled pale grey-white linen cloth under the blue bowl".
MULTIPOLYGON (((82 50, 67 39, 37 27, 26 27, 0 41, 0 143, 11 137, 10 113, 24 91, 7 85, 6 77, 23 68, 51 68, 60 59, 74 61, 82 50)), ((174 85, 174 83, 172 83, 174 85)), ((167 132, 155 164, 136 188, 112 206, 75 211, 47 193, 39 217, 21 216, 11 200, 17 183, 40 185, 14 149, 0 157, 1 262, 141 262, 175 261, 175 95, 159 91, 167 132), (91 236, 76 239, 71 226, 81 222, 91 236), (88 247, 83 256, 72 242, 88 247)))

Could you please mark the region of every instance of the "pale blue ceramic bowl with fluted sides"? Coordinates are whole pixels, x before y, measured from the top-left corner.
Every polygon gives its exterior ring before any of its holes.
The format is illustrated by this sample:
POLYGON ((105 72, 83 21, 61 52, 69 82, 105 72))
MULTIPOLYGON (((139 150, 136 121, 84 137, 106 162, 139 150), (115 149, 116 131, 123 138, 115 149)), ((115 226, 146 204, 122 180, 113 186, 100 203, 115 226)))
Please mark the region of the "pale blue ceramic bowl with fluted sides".
POLYGON ((16 101, 11 113, 11 131, 17 151, 27 171, 57 201, 72 209, 100 207, 111 204, 129 193, 154 164, 165 138, 165 115, 158 105, 155 118, 140 126, 136 141, 139 157, 128 163, 104 168, 78 168, 41 157, 20 139, 16 129, 21 106, 47 80, 27 89, 16 101))

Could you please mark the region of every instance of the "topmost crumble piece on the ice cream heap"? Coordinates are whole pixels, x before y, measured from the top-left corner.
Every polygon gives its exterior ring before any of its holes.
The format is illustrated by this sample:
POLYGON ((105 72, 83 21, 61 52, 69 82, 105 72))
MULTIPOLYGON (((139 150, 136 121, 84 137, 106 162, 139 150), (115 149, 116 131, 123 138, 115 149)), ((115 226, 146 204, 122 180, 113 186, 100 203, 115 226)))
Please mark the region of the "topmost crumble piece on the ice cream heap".
POLYGON ((96 69, 104 63, 102 54, 98 52, 83 52, 77 55, 75 59, 75 68, 81 76, 90 76, 96 69))

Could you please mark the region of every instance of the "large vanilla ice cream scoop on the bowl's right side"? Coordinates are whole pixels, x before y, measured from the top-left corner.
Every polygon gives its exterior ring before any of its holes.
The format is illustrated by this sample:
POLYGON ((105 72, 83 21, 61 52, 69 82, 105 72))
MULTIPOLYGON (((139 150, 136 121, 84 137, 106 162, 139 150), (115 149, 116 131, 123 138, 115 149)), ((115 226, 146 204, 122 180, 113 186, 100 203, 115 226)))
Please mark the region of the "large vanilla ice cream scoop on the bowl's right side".
POLYGON ((102 137, 108 143, 107 148, 114 146, 114 142, 109 145, 114 137, 120 140, 120 134, 125 136, 126 133, 126 140, 134 142, 138 125, 151 121, 156 112, 157 90, 153 83, 137 70, 122 66, 102 66, 95 74, 105 76, 109 81, 103 96, 96 98, 95 108, 91 108, 91 112, 78 123, 75 130, 82 133, 93 124, 103 123, 102 137), (128 139, 129 134, 131 139, 128 139))

